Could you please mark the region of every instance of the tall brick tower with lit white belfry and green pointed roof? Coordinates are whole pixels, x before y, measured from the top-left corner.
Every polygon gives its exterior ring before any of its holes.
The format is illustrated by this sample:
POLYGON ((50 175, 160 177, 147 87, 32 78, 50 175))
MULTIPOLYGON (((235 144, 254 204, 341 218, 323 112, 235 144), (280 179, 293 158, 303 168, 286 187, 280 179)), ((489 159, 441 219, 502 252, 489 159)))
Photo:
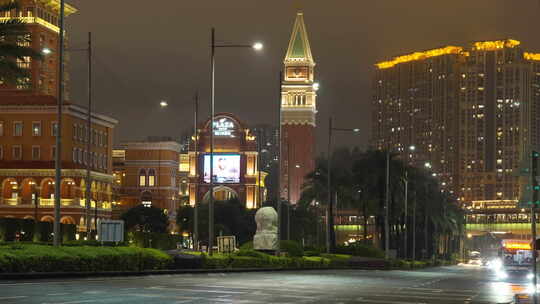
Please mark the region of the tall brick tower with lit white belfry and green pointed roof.
POLYGON ((298 12, 285 55, 281 85, 281 196, 293 204, 300 199, 304 177, 315 169, 314 67, 304 15, 298 12))

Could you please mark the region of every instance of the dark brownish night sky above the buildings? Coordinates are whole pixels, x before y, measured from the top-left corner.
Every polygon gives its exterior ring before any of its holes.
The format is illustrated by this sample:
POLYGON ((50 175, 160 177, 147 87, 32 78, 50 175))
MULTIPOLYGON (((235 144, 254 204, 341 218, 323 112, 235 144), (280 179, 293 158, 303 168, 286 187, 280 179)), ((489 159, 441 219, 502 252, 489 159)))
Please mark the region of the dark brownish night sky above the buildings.
MULTIPOLYGON (((95 109, 120 121, 115 141, 178 138, 193 124, 193 95, 209 116, 210 28, 224 43, 261 41, 262 52, 218 49, 216 112, 248 124, 277 120, 278 73, 298 8, 317 63, 317 151, 326 151, 328 115, 360 135, 336 146, 366 147, 373 64, 393 56, 475 40, 514 38, 540 52, 538 0, 71 0, 69 47, 94 36, 95 109), (159 6, 153 6, 159 4, 159 6), (169 107, 161 109, 166 99, 169 107)), ((86 58, 71 54, 71 100, 86 102, 86 58)))

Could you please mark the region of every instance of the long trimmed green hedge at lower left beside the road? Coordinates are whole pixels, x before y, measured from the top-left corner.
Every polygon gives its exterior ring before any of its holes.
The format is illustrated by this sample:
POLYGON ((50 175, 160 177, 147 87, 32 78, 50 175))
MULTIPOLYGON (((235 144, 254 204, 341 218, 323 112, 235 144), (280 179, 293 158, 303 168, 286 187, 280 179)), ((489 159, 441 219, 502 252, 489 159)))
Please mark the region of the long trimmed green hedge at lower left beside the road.
POLYGON ((172 258, 137 247, 0 245, 0 273, 95 272, 167 269, 172 258))

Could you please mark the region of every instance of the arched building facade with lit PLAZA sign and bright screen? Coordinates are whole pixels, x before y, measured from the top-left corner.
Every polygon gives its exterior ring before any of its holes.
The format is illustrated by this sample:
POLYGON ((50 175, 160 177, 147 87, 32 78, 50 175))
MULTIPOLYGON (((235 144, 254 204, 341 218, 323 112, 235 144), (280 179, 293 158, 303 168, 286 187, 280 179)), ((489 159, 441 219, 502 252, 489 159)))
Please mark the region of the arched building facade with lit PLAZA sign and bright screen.
POLYGON ((180 192, 189 196, 189 203, 206 203, 210 191, 210 132, 214 132, 214 199, 233 197, 247 208, 258 208, 266 199, 264 179, 259 170, 259 150, 255 134, 236 116, 215 115, 197 129, 188 154, 180 155, 180 192), (187 186, 186 186, 187 184, 187 186))

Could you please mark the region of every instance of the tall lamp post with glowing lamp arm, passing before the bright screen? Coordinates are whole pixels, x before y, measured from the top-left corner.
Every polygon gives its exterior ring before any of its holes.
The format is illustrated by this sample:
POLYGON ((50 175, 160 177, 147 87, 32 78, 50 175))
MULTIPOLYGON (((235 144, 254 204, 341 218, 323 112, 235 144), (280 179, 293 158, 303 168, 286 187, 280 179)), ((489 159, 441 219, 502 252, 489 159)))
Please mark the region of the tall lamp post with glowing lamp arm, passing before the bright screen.
POLYGON ((208 252, 214 246, 214 110, 215 110, 215 54, 216 48, 253 48, 262 50, 260 42, 254 44, 216 44, 215 28, 210 30, 210 200, 208 202, 208 252))

